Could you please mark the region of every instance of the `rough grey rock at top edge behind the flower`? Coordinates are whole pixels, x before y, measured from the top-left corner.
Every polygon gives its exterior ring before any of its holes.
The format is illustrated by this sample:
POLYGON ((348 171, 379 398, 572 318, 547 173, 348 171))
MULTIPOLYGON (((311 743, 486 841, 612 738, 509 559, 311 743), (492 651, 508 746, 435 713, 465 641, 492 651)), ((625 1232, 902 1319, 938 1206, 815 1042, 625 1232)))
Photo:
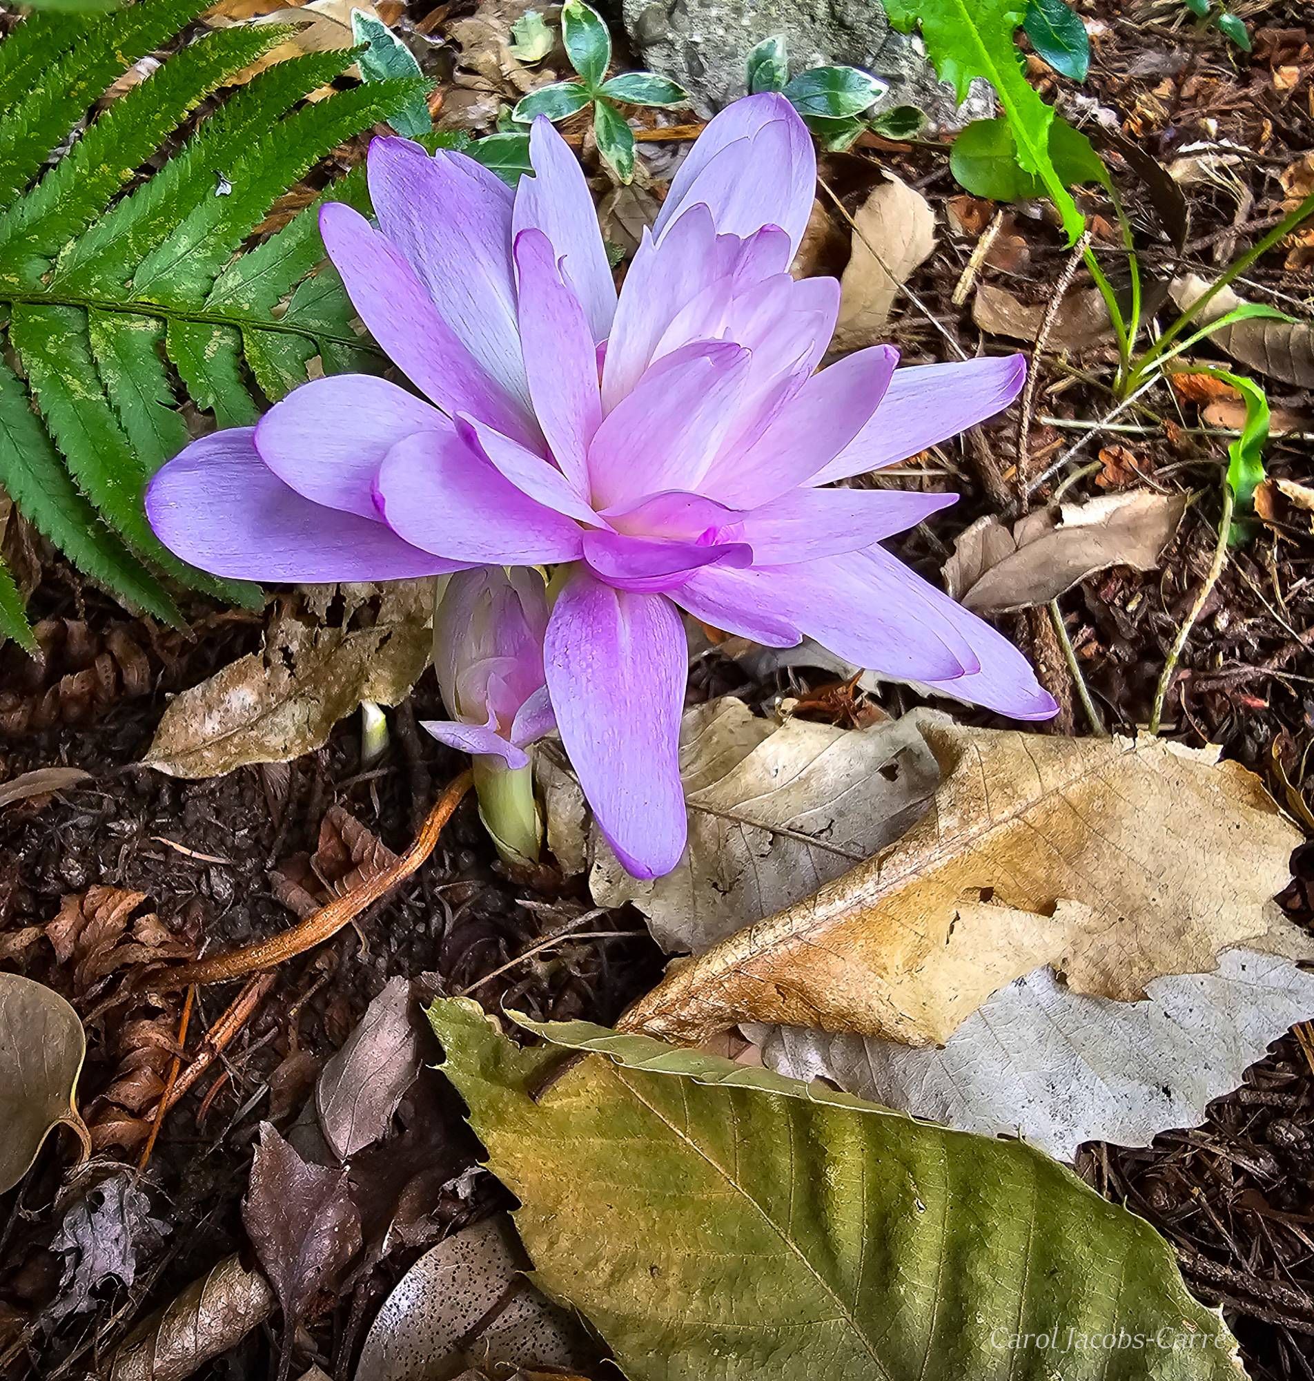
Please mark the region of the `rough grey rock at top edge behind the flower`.
POLYGON ((704 117, 744 95, 749 50, 776 33, 785 36, 791 76, 834 62, 885 77, 878 112, 915 105, 941 130, 994 115, 984 81, 959 108, 921 39, 896 33, 876 0, 621 0, 621 14, 643 65, 679 81, 704 117))

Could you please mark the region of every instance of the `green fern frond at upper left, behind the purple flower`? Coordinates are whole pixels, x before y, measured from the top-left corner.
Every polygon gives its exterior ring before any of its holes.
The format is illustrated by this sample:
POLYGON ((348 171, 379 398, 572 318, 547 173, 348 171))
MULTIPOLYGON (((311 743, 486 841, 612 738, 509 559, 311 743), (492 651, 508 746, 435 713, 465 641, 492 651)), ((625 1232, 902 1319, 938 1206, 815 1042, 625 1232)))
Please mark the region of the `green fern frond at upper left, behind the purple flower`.
MULTIPOLYGON (((184 403, 219 427, 250 425, 311 373, 382 366, 322 268, 317 207, 364 209, 362 170, 264 243, 247 240, 324 155, 426 91, 422 79, 380 81, 305 105, 353 52, 297 57, 142 178, 203 101, 287 37, 271 25, 207 35, 81 130, 123 69, 204 3, 138 0, 94 25, 33 14, 0 43, 0 318, 18 365, 0 359, 0 486, 86 574, 174 623, 168 583, 261 599, 177 561, 146 522, 150 476, 192 435, 184 403)), ((6 581, 0 568, 0 635, 22 641, 22 601, 6 581)))

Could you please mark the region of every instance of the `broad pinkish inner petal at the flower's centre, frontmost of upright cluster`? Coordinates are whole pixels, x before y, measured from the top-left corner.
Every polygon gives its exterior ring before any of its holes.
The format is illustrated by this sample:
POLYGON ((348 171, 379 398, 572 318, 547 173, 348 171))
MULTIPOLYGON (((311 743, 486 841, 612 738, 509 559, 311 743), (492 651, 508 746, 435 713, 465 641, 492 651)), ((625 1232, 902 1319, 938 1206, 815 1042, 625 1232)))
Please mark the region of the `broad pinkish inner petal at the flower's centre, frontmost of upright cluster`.
POLYGON ((686 345, 657 360, 594 436, 594 505, 697 489, 733 421, 748 362, 748 352, 730 341, 686 345))

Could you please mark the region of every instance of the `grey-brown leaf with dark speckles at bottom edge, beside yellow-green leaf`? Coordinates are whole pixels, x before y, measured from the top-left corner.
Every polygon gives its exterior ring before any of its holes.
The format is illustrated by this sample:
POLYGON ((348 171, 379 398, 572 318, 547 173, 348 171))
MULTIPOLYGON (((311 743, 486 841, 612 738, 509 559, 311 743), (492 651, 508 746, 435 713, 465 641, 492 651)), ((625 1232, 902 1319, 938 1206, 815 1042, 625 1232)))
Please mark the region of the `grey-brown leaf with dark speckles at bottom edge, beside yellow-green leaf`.
POLYGON ((469 1366, 577 1363, 578 1327, 522 1276, 516 1251, 511 1221, 498 1215, 425 1253, 380 1309, 356 1381, 449 1381, 469 1366))

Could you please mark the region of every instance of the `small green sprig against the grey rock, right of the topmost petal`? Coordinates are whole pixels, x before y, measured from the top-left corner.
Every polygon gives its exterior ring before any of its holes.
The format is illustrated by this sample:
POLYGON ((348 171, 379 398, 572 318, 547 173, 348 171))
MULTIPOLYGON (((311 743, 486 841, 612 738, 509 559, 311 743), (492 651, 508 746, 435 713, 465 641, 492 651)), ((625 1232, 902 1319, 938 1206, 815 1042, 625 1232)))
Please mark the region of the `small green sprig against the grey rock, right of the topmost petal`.
POLYGON ((888 138, 910 138, 922 127, 922 112, 900 105, 874 119, 864 113, 889 90, 889 83, 861 68, 807 68, 790 80, 783 35, 763 39, 748 54, 749 94, 778 91, 803 117, 824 149, 847 149, 865 130, 888 138))

